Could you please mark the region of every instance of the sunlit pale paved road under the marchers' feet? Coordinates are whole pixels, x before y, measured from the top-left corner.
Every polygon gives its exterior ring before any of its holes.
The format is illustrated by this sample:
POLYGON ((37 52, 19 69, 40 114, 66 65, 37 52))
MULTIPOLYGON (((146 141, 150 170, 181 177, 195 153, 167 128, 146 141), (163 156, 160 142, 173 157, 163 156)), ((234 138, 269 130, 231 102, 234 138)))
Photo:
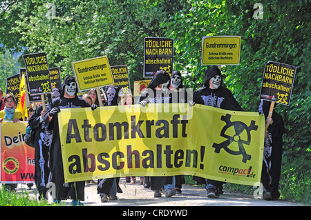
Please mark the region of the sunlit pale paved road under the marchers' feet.
MULTIPOLYGON (((23 186, 26 187, 26 185, 23 186)), ((153 191, 140 185, 139 178, 135 184, 126 183, 125 178, 121 178, 120 188, 122 188, 123 193, 117 194, 118 200, 101 203, 96 188, 97 183, 86 184, 86 200, 83 202, 85 206, 303 206, 301 203, 281 200, 265 201, 254 199, 252 196, 227 192, 220 195, 219 199, 208 199, 205 188, 185 185, 182 186, 182 194, 176 194, 171 198, 162 194, 162 197, 154 198, 153 191)), ((256 189, 254 188, 254 190, 256 189)), ((66 206, 69 206, 70 200, 65 203, 66 206)))

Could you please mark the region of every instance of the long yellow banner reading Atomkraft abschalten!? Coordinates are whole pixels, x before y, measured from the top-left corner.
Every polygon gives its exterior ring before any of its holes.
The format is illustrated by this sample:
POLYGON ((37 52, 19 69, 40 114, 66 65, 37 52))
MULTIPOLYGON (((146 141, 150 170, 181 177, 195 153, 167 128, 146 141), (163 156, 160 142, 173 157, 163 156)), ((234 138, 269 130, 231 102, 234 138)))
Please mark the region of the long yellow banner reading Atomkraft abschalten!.
POLYGON ((65 181, 190 174, 258 185, 265 119, 196 104, 62 109, 65 181))

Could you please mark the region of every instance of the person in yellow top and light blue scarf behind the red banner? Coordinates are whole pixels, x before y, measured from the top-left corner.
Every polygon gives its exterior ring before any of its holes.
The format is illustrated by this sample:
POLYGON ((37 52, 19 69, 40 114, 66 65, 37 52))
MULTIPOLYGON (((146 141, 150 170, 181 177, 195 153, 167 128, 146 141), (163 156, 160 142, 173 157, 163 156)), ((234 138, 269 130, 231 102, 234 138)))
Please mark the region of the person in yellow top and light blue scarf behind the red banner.
MULTIPOLYGON (((13 121, 13 123, 17 123, 17 121, 21 121, 23 114, 21 111, 15 109, 16 101, 12 94, 6 94, 3 99, 4 110, 0 111, 0 123, 4 121, 13 121)), ((15 191, 17 188, 17 183, 6 183, 5 188, 8 190, 15 191)))

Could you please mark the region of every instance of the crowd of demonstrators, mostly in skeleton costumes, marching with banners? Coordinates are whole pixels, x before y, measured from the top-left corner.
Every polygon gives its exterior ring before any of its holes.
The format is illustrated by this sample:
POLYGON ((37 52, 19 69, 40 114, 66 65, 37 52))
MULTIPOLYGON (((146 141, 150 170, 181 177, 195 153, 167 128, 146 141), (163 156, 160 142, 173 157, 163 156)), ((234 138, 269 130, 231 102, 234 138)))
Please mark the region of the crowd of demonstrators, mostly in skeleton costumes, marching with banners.
MULTIPOLYGON (((39 192, 39 199, 47 199, 48 183, 55 184, 54 203, 62 200, 73 199, 73 206, 83 206, 81 201, 85 199, 84 188, 90 181, 77 181, 75 183, 65 183, 64 168, 62 161, 62 150, 59 137, 59 125, 57 113, 62 108, 89 108, 100 110, 100 105, 96 90, 89 90, 83 96, 77 97, 77 83, 75 78, 66 76, 62 85, 62 90, 55 89, 50 94, 46 108, 38 105, 37 108, 28 110, 28 126, 32 129, 35 147, 35 185, 39 192), (31 115, 32 114, 32 115, 31 115)), ((106 87, 103 106, 132 105, 133 96, 126 94, 119 97, 120 88, 116 86, 106 87)), ((104 91, 103 91, 104 92, 104 91)), ((0 89, 0 94, 2 90, 0 89)), ((193 99, 182 85, 182 75, 178 71, 173 71, 171 77, 163 70, 159 70, 154 75, 146 89, 140 94, 138 103, 147 106, 147 103, 189 103, 190 106, 202 104, 214 108, 225 110, 243 111, 240 104, 234 98, 230 90, 223 86, 223 77, 217 67, 205 70, 205 81, 202 88, 196 90, 193 99)), ((263 172, 261 181, 265 188, 264 199, 279 199, 279 179, 281 175, 282 157, 282 136, 285 131, 281 115, 274 112, 271 117, 267 117, 267 106, 270 102, 261 101, 259 112, 265 114, 265 119, 269 123, 267 135, 265 137, 265 150, 263 158, 263 172)), ((16 110, 16 101, 11 94, 1 95, 0 101, 0 122, 21 120, 22 113, 16 110)), ((205 184, 208 198, 218 198, 223 193, 223 182, 213 179, 194 177, 196 183, 205 184)), ((100 201, 107 202, 117 199, 117 193, 122 193, 119 186, 120 177, 98 179, 97 193, 100 194, 100 201)), ((126 177, 126 182, 135 183, 135 177, 126 177), (130 179, 131 178, 131 179, 130 179)), ((182 184, 185 183, 183 175, 178 176, 158 176, 141 177, 140 184, 144 188, 151 188, 154 197, 161 197, 164 191, 165 197, 172 197, 176 193, 182 193, 182 184)), ((17 184, 6 184, 6 188, 15 190, 17 184)))

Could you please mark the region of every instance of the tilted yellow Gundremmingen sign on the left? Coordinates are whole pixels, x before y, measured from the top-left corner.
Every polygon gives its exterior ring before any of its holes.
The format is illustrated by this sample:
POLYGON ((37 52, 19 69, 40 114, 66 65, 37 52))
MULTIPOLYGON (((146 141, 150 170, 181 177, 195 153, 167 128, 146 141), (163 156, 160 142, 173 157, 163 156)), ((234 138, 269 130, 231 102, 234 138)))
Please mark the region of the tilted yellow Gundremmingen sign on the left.
POLYGON ((113 84, 107 56, 71 63, 80 91, 113 84))

